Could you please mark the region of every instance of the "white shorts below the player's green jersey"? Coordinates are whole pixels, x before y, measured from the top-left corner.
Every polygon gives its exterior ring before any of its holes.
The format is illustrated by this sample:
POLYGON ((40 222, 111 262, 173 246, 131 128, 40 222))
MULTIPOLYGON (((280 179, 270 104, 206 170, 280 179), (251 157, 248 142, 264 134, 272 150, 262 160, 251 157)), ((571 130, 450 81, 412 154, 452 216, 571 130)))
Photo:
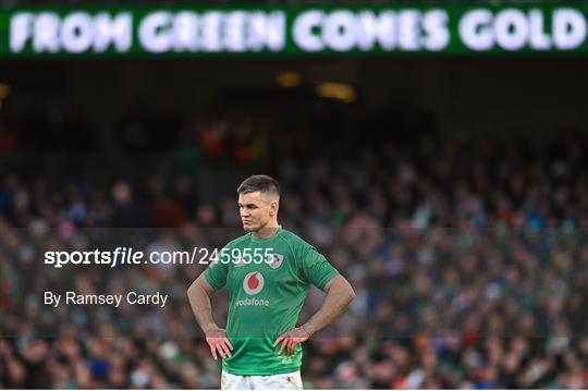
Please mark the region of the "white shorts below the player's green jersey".
POLYGON ((221 390, 302 390, 301 371, 268 375, 240 376, 224 370, 221 374, 221 390))

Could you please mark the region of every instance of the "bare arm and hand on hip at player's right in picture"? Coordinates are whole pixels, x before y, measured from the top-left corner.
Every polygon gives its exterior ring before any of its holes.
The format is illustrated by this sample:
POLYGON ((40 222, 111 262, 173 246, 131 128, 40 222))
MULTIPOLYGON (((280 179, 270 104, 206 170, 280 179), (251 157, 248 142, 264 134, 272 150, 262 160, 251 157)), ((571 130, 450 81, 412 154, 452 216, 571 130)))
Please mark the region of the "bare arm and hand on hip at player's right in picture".
POLYGON ((341 274, 333 277, 324 285, 324 292, 327 293, 324 302, 322 302, 319 310, 306 323, 287 331, 275 340, 273 343, 274 347, 282 342, 278 354, 282 354, 284 349, 289 355, 293 354, 296 345, 308 340, 310 335, 335 320, 355 297, 352 285, 341 274))

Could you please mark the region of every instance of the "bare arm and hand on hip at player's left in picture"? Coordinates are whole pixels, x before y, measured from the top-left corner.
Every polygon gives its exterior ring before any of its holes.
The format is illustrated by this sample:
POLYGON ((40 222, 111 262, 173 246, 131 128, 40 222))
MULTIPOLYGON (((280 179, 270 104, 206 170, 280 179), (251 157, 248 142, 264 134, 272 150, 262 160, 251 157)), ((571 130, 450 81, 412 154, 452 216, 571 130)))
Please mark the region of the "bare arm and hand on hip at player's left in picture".
POLYGON ((231 350, 233 345, 229 338, 226 337, 226 331, 221 329, 215 322, 212 317, 212 307, 210 305, 210 297, 215 294, 215 290, 206 278, 204 273, 198 276, 198 278, 189 285, 187 290, 187 296, 192 311, 196 317, 196 321, 203 329, 206 335, 206 342, 210 347, 210 353, 212 357, 217 359, 217 352, 222 358, 225 356, 231 357, 231 350))

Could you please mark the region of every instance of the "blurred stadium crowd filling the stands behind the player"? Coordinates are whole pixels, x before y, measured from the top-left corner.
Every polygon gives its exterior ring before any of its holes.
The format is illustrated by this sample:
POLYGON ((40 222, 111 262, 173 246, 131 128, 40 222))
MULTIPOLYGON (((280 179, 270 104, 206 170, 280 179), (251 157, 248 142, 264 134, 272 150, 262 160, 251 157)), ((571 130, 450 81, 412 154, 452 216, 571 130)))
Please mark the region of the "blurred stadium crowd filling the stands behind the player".
MULTIPOLYGON (((336 325, 306 343, 307 388, 588 387, 584 136, 329 143, 254 129, 199 123, 170 152, 167 172, 113 178, 20 172, 27 155, 3 126, 0 158, 11 166, 0 178, 1 388, 219 386, 219 363, 185 297, 201 266, 40 265, 46 249, 117 240, 136 249, 222 246, 238 232, 235 194, 203 199, 203 186, 217 183, 198 180, 219 161, 273 174, 283 227, 356 290, 336 325), (161 289, 171 303, 44 306, 42 291, 64 286, 161 289)), ((311 291, 303 317, 321 297, 311 291)), ((223 319, 225 300, 213 308, 223 319)))

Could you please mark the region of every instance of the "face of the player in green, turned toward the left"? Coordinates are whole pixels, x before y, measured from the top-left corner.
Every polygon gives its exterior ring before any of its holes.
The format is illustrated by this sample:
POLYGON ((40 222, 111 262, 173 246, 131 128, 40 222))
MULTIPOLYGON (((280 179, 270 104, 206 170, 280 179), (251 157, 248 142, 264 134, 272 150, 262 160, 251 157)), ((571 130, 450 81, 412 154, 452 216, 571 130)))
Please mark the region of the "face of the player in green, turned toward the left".
POLYGON ((258 231, 266 227, 278 211, 278 201, 260 192, 240 194, 238 210, 243 229, 258 231))

